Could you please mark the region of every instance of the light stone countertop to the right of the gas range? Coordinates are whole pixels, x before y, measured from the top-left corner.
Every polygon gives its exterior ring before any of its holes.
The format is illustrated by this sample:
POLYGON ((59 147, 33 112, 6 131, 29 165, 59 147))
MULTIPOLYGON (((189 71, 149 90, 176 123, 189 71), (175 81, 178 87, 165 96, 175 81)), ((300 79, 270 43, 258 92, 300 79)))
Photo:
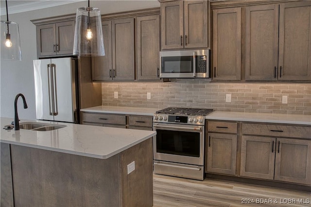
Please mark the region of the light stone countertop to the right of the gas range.
POLYGON ((311 115, 297 115, 297 114, 213 111, 212 113, 208 114, 205 117, 205 119, 311 125, 311 115))

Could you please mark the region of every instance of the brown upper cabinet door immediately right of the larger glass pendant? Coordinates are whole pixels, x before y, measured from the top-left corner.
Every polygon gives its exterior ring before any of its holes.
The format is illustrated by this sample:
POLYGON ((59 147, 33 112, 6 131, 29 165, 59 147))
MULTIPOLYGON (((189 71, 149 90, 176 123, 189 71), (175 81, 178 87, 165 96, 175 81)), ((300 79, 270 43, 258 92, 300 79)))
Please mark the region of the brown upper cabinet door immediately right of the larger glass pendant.
POLYGON ((112 20, 114 80, 135 79, 134 18, 112 20))

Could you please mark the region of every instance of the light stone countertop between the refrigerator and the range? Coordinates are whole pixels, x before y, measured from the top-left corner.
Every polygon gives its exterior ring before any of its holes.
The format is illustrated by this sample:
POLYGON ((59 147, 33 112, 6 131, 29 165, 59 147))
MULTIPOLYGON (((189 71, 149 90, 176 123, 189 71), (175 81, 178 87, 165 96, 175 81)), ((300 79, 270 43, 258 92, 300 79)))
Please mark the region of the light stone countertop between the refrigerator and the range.
POLYGON ((129 114, 129 115, 141 115, 141 116, 154 116, 154 113, 158 110, 160 109, 127 107, 127 106, 110 106, 110 105, 99 105, 99 106, 94 106, 90 108, 80 109, 80 111, 83 111, 83 112, 129 114))

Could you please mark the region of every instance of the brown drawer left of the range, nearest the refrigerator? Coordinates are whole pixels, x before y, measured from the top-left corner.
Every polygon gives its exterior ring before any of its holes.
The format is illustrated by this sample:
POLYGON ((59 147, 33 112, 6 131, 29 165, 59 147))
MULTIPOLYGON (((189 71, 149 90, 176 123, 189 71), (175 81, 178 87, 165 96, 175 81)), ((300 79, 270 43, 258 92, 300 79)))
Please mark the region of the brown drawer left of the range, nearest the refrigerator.
POLYGON ((109 124, 124 124, 126 123, 125 115, 116 114, 93 114, 82 113, 83 122, 109 123, 109 124))

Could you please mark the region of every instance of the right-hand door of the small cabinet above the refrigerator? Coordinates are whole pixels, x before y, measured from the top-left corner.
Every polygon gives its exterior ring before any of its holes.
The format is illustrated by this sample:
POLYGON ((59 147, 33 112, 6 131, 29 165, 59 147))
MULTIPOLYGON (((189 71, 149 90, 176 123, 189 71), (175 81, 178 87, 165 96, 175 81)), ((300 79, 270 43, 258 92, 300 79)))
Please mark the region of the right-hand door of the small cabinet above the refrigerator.
POLYGON ((56 23, 56 54, 72 54, 74 21, 56 23))

